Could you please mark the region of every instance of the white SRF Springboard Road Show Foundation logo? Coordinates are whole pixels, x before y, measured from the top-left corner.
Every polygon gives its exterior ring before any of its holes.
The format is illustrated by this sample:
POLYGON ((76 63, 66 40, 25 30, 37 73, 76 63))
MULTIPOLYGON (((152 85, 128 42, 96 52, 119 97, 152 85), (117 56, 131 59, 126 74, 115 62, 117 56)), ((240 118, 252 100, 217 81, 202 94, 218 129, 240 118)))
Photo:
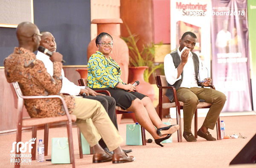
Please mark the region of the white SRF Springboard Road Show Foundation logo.
POLYGON ((29 140, 29 142, 13 142, 12 143, 12 151, 11 153, 15 152, 15 144, 16 144, 16 151, 17 153, 20 151, 21 153, 25 153, 27 151, 27 144, 29 144, 29 153, 30 154, 11 154, 11 165, 31 165, 31 157, 32 157, 32 154, 31 154, 31 149, 33 148, 32 147, 32 144, 35 144, 35 140, 36 138, 31 138, 29 140), (19 145, 20 148, 19 148, 19 145))

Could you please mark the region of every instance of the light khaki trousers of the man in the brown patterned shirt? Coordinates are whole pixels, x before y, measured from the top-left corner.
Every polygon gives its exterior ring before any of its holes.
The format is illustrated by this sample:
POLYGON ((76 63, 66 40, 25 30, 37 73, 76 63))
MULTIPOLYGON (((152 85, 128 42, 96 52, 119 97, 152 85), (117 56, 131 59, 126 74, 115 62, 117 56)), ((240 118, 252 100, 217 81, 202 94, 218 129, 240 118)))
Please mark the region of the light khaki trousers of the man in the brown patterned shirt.
POLYGON ((110 151, 120 146, 123 139, 99 101, 75 98, 76 124, 90 146, 95 146, 102 138, 110 151))

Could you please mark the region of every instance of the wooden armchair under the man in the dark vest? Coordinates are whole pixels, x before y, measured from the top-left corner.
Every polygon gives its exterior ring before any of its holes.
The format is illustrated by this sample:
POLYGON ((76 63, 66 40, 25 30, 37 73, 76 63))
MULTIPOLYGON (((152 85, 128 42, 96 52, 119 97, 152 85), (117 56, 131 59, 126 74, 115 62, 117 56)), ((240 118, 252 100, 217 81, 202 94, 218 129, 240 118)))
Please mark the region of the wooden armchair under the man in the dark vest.
MULTIPOLYGON (((178 142, 182 142, 182 135, 181 135, 181 120, 180 120, 180 109, 183 109, 184 103, 182 101, 178 101, 177 93, 175 90, 175 87, 169 87, 167 86, 166 76, 156 76, 157 81, 157 87, 159 88, 159 117, 162 120, 162 109, 169 109, 169 108, 176 108, 176 115, 177 115, 177 124, 180 126, 180 128, 177 131, 178 134, 178 142), (171 89, 174 93, 174 101, 173 103, 163 103, 162 98, 164 95, 166 95, 166 90, 171 89)), ((212 89, 215 90, 215 87, 213 85, 209 85, 212 89)), ((205 109, 210 108, 212 104, 206 103, 206 102, 199 102, 197 109, 205 109)), ((197 109, 195 110, 195 138, 197 138, 197 130, 198 130, 198 117, 197 117, 197 109)), ((216 129, 217 129, 217 139, 221 140, 221 129, 220 129, 220 118, 218 118, 216 123, 216 129)))

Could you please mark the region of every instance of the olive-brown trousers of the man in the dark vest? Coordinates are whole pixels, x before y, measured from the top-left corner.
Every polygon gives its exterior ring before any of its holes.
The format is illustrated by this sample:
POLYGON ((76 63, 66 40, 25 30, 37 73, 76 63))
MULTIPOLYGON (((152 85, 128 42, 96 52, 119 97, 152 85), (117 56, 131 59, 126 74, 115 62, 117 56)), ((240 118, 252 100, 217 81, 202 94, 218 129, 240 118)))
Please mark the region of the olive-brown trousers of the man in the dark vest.
POLYGON ((224 95, 222 92, 203 87, 191 87, 190 89, 180 87, 177 90, 177 97, 178 101, 184 102, 183 120, 185 132, 192 132, 191 124, 196 106, 199 103, 198 99, 204 99, 205 102, 212 104, 203 123, 203 126, 206 126, 209 129, 214 129, 221 110, 223 109, 223 106, 227 100, 226 95, 224 95))

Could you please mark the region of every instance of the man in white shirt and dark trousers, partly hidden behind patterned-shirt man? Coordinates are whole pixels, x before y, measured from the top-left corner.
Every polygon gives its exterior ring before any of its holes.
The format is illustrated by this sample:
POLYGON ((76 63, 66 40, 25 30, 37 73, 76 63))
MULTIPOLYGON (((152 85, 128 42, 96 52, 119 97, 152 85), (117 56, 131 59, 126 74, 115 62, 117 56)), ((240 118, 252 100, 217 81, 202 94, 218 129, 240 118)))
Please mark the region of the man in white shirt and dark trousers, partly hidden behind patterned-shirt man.
MULTIPOLYGON (((48 49, 51 52, 55 52, 57 45, 56 45, 54 36, 48 31, 42 31, 41 34, 43 36, 41 37, 40 45, 43 46, 44 48, 48 49)), ((36 58, 41 60, 44 63, 44 66, 46 67, 47 72, 52 76, 53 75, 53 66, 52 66, 52 61, 49 59, 49 56, 38 51, 36 58)), ((63 69, 61 69, 61 76, 62 76, 62 87, 61 87, 60 93, 69 94, 69 95, 79 95, 79 94, 82 95, 83 93, 86 93, 86 96, 84 96, 84 98, 99 101, 102 104, 102 106, 104 106, 111 121, 113 122, 114 126, 116 126, 116 129, 118 129, 117 121, 116 121, 116 101, 114 98, 112 98, 111 96, 106 96, 106 95, 97 93, 87 86, 80 87, 80 86, 75 85, 73 82, 70 82, 64 76, 63 69)), ((88 105, 90 105, 90 104, 88 104, 88 105)), ((105 142, 102 139, 99 140, 99 145, 102 146, 102 148, 105 151, 110 153, 105 142)), ((125 151, 125 153, 129 153, 132 150, 131 149, 129 149, 129 150, 123 149, 123 151, 125 151)))

